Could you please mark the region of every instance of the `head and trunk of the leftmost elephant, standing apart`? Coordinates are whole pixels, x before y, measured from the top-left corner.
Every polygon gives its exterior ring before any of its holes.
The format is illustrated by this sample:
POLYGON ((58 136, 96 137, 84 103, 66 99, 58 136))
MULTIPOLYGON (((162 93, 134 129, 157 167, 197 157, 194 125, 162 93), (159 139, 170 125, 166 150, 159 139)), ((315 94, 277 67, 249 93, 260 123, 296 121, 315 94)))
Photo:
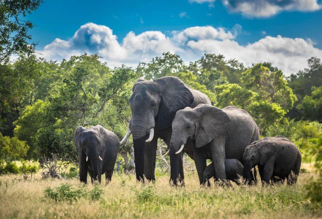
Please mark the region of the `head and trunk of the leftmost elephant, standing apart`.
POLYGON ((75 130, 75 143, 80 154, 86 155, 86 161, 91 163, 94 179, 101 181, 101 174, 99 173, 99 156, 100 148, 100 133, 93 129, 85 129, 78 126, 75 130))

